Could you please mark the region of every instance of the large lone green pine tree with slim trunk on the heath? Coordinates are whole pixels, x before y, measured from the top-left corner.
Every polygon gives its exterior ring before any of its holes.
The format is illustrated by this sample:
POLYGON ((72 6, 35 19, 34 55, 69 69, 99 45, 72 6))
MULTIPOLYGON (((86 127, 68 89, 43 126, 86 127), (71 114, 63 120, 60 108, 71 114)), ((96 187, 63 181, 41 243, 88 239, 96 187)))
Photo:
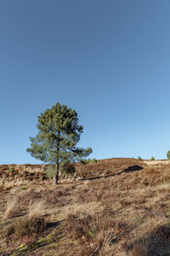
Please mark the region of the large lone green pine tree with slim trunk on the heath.
POLYGON ((56 166, 54 183, 59 180, 59 165, 86 158, 92 148, 77 148, 82 125, 78 125, 77 112, 56 103, 37 117, 36 137, 30 137, 31 147, 26 151, 38 160, 56 166))

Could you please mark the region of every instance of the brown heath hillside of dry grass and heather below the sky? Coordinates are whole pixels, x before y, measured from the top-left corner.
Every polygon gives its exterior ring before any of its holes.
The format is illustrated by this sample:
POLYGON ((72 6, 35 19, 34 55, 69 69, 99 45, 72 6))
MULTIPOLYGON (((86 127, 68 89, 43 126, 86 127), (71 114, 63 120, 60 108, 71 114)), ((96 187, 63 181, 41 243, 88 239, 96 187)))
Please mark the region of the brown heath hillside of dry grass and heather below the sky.
POLYGON ((0 255, 170 255, 170 161, 108 159, 53 185, 0 166, 0 255))

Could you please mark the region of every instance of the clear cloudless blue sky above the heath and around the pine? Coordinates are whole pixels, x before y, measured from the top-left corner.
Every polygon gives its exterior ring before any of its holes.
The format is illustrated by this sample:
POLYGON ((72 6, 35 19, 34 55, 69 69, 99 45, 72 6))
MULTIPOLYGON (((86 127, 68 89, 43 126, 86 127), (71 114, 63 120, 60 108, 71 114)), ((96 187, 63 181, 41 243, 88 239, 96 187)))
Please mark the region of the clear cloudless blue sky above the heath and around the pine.
POLYGON ((1 0, 0 164, 39 163, 37 115, 77 110, 91 157, 165 159, 170 1, 1 0))

